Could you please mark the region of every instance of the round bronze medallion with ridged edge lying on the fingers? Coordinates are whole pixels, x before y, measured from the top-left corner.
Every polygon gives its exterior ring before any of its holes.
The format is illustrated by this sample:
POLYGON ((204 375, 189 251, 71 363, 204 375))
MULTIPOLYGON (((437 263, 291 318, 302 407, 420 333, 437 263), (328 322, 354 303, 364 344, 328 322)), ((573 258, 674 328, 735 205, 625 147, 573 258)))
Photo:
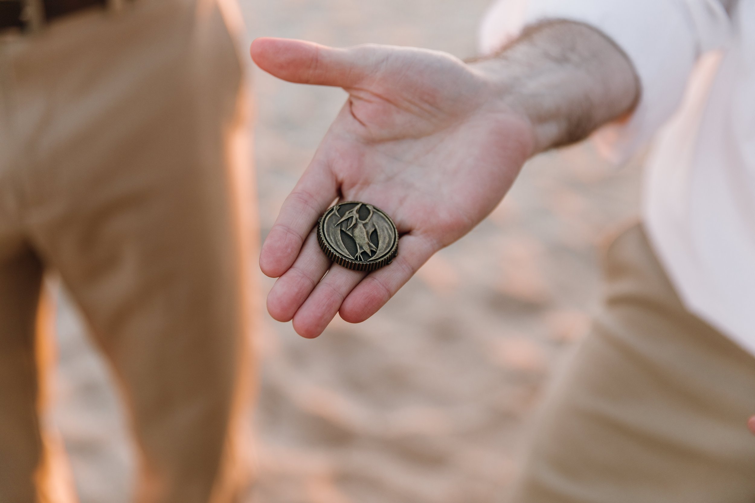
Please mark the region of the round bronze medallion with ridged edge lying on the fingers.
POLYGON ((329 259, 355 271, 388 265, 399 251, 399 232, 390 216, 359 201, 326 211, 317 222, 317 241, 329 259))

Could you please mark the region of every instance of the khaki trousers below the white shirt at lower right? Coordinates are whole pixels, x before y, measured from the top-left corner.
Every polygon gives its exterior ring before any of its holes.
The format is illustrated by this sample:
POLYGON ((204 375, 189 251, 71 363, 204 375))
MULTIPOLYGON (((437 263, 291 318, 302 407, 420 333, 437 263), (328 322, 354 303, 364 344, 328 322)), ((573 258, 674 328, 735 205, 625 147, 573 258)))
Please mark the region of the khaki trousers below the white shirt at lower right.
POLYGON ((546 400, 516 503, 753 503, 755 358, 683 308, 640 226, 546 400))

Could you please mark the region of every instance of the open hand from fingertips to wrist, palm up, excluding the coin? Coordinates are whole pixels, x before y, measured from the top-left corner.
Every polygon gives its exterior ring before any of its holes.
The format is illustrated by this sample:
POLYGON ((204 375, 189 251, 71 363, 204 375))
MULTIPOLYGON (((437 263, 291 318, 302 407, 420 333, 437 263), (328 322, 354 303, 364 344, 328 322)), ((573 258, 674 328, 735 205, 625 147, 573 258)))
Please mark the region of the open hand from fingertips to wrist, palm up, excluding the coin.
POLYGON ((374 314, 492 211, 532 154, 529 122, 497 100, 482 72, 448 54, 260 38, 251 56, 279 78, 349 93, 260 255, 262 271, 279 278, 268 311, 302 336, 318 336, 339 311, 353 323, 374 314), (393 218, 402 237, 390 265, 367 274, 322 253, 313 228, 337 199, 393 218))

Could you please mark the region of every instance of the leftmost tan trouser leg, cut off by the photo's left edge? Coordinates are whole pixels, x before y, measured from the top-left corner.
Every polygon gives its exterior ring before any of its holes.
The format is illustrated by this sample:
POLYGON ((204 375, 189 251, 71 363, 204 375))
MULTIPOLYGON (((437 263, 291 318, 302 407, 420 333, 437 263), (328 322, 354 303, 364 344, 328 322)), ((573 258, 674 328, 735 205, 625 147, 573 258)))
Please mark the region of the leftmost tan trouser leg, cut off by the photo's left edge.
POLYGON ((0 42, 0 501, 73 503, 70 467, 50 420, 53 303, 42 293, 44 265, 20 215, 11 71, 0 42))

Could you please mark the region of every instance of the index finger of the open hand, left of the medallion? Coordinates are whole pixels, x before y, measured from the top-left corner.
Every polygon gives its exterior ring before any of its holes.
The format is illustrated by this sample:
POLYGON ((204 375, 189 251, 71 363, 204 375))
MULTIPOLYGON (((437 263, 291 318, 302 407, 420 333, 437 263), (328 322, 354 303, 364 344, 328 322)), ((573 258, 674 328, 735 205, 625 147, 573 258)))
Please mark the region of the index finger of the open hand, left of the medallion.
POLYGON ((320 215, 337 196, 337 182, 324 163, 311 165, 281 207, 260 253, 260 269, 279 278, 293 265, 320 215))

